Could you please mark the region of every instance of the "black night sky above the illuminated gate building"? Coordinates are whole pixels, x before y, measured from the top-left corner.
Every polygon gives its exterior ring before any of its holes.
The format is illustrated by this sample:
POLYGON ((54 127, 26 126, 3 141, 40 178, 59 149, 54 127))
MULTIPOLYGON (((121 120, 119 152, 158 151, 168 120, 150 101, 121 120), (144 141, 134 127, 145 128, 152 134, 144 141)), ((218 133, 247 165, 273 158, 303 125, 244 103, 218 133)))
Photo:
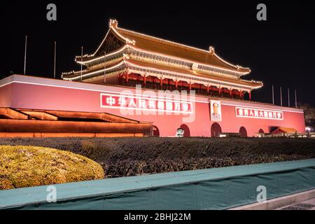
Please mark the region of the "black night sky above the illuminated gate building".
POLYGON ((27 73, 52 78, 53 41, 57 41, 57 76, 79 69, 73 62, 97 49, 108 30, 109 18, 120 27, 209 49, 252 72, 244 79, 262 80, 253 100, 276 104, 279 87, 288 105, 315 106, 315 9, 311 1, 10 1, 2 3, 1 43, 5 60, 0 76, 23 72, 28 35, 27 73), (207 2, 207 3, 206 3, 207 2), (48 3, 57 5, 57 22, 46 20, 48 3), (267 5, 267 21, 256 20, 258 3, 267 5))

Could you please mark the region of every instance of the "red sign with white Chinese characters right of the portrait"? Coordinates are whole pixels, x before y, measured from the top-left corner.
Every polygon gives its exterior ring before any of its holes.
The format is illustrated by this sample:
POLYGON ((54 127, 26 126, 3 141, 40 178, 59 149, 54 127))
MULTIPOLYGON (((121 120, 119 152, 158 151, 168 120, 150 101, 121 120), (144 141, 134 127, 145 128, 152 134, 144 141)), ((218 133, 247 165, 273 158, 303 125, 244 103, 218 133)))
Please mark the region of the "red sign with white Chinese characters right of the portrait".
POLYGON ((252 109, 246 107, 235 107, 236 116, 239 118, 260 118, 270 120, 283 120, 282 111, 269 111, 265 109, 252 109))

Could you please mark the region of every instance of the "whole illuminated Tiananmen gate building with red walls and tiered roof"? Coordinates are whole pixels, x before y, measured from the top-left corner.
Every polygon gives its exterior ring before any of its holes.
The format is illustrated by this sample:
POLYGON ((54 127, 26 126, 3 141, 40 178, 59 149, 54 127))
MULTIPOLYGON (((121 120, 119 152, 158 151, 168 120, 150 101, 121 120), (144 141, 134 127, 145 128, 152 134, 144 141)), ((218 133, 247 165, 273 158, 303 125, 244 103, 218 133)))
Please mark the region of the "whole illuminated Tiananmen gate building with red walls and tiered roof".
MULTIPOLYGON (((4 137, 219 137, 224 133, 305 132, 302 109, 251 102, 262 83, 250 69, 193 48, 118 27, 80 71, 62 80, 13 75, 0 80, 4 137), (22 134, 21 134, 22 133, 22 134)), ((1 137, 1 134, 0 134, 1 137)))

